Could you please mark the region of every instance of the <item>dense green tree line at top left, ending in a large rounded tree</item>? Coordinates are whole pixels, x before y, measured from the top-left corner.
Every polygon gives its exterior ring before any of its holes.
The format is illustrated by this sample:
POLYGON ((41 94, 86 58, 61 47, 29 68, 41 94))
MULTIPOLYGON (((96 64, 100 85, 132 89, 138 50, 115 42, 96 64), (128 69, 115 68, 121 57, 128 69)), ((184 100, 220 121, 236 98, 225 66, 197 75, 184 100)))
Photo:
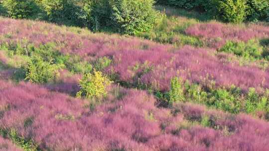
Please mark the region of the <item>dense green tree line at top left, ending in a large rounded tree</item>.
POLYGON ((1 0, 0 12, 11 18, 135 34, 152 28, 156 18, 153 0, 1 0))

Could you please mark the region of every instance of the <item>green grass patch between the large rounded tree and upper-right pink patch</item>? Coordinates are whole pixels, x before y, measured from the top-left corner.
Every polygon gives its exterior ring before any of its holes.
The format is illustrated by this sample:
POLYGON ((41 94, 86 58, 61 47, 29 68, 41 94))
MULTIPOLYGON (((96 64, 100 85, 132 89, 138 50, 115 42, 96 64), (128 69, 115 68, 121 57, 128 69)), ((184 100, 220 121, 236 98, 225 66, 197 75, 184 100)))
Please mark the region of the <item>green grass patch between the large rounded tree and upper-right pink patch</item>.
POLYGON ((152 30, 140 32, 136 36, 163 44, 173 44, 178 47, 184 45, 203 47, 204 42, 199 38, 185 34, 185 29, 197 23, 199 23, 199 20, 181 16, 169 16, 162 12, 152 30))

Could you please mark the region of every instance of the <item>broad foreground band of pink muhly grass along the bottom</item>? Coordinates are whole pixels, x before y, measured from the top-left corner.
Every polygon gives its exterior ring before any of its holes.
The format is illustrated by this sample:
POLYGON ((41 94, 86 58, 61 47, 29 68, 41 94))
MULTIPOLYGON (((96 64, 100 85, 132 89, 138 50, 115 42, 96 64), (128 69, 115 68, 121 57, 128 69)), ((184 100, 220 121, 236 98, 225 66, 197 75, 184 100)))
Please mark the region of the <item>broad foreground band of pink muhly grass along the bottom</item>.
POLYGON ((104 102, 90 111, 85 107, 87 101, 49 92, 34 84, 0 83, 0 106, 8 106, 0 127, 16 129, 42 150, 262 151, 269 148, 268 122, 244 114, 230 115, 206 111, 199 105, 179 104, 175 108, 180 112, 171 115, 167 109, 154 105, 153 96, 132 89, 126 90, 116 102, 104 102), (205 114, 219 129, 195 125, 179 129, 186 119, 199 121, 205 114), (26 120, 31 122, 25 125, 26 120))

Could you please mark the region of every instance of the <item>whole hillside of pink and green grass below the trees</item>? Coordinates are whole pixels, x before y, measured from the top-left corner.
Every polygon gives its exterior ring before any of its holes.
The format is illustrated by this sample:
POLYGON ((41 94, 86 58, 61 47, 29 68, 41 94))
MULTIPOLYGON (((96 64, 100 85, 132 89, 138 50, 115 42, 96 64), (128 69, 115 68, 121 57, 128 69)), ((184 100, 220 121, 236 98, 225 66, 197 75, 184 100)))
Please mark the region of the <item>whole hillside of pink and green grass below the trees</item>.
POLYGON ((138 37, 0 18, 0 150, 269 148, 269 27, 165 11, 138 37), (76 97, 89 73, 113 83, 76 97))

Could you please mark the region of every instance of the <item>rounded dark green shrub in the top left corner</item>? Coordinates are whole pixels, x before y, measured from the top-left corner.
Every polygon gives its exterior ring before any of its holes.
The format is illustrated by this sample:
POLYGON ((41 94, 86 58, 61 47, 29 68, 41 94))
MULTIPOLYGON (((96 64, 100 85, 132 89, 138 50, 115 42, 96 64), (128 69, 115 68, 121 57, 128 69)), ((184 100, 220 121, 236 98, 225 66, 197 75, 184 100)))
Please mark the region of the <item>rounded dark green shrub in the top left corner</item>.
POLYGON ((11 18, 29 18, 38 10, 35 0, 2 0, 1 3, 11 18))

